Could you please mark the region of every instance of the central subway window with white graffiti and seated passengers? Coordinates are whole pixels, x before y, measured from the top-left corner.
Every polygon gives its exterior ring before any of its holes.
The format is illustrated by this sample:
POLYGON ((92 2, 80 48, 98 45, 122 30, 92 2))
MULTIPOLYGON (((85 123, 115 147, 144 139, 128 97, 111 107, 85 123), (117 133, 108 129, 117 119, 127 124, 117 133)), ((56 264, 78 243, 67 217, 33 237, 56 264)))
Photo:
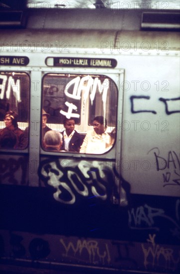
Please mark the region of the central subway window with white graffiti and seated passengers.
POLYGON ((43 149, 103 154, 112 148, 118 90, 109 77, 49 73, 42 89, 43 149))

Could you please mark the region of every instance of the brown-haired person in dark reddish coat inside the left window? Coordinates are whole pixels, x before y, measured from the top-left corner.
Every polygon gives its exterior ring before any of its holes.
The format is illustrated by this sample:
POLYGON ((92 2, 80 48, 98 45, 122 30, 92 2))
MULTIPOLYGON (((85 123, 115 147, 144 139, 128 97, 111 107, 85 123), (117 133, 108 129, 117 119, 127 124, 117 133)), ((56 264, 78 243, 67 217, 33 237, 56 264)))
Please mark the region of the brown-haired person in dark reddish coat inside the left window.
POLYGON ((0 139, 2 140, 4 135, 11 135, 10 133, 13 133, 16 136, 16 143, 13 145, 13 148, 24 149, 26 147, 24 132, 18 128, 17 113, 14 111, 6 112, 4 116, 4 123, 5 128, 0 130, 0 139))

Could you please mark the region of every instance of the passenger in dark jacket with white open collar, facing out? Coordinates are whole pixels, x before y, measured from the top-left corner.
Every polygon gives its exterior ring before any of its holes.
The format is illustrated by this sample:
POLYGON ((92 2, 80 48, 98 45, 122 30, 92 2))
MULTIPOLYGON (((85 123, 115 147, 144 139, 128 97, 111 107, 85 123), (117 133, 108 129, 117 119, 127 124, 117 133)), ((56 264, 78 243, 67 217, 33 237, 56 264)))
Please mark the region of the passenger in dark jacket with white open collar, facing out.
POLYGON ((62 132, 62 149, 65 151, 79 152, 80 146, 82 144, 82 137, 77 131, 74 130, 74 119, 65 118, 63 124, 65 131, 62 132))

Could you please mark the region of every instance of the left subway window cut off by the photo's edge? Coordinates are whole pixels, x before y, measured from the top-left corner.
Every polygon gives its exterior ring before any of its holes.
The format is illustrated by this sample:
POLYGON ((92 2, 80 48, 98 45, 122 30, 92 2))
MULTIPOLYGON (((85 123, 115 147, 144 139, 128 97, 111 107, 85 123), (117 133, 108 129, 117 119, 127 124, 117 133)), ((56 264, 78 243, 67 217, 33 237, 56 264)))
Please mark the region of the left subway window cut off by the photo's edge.
POLYGON ((30 78, 25 72, 0 72, 0 148, 28 146, 30 78))

